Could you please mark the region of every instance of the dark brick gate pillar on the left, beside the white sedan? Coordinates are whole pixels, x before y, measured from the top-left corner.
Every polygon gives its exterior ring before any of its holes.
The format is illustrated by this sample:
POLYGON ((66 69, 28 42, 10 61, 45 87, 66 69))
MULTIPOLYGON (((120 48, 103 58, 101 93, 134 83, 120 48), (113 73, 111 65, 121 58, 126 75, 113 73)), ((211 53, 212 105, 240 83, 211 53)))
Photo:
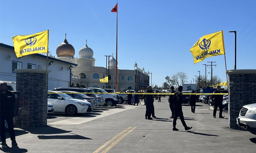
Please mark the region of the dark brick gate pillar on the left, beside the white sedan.
MULTIPOLYGON (((47 125, 47 88, 45 70, 16 69, 16 89, 20 93, 20 114, 16 127, 47 125)), ((48 71, 49 73, 50 71, 48 71)), ((48 75, 47 73, 47 75, 48 75)))

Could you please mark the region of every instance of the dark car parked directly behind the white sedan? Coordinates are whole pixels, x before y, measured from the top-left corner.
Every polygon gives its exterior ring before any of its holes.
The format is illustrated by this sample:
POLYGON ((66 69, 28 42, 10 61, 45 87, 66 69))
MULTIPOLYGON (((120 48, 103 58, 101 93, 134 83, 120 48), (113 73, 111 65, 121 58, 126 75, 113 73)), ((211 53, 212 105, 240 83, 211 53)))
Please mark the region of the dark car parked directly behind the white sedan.
POLYGON ((74 99, 82 99, 84 101, 87 101, 91 103, 91 106, 93 106, 93 110, 96 108, 95 98, 89 97, 85 94, 77 93, 76 91, 60 91, 61 93, 69 93, 67 95, 71 96, 74 99))

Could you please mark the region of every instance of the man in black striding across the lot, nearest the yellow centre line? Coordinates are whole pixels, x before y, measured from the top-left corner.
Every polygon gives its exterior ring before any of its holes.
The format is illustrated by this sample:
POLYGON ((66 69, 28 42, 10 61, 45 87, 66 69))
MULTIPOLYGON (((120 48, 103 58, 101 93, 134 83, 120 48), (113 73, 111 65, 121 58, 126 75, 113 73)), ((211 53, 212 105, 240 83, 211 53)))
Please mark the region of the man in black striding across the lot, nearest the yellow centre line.
POLYGON ((173 95, 173 104, 174 104, 174 118, 173 118, 173 131, 178 131, 178 129, 176 128, 176 121, 177 118, 180 117, 180 121, 182 123, 182 125, 184 126, 185 130, 190 130, 192 129, 191 127, 188 127, 186 125, 186 122, 184 120, 184 116, 183 116, 183 112, 182 112, 182 86, 178 87, 178 91, 176 91, 173 95))

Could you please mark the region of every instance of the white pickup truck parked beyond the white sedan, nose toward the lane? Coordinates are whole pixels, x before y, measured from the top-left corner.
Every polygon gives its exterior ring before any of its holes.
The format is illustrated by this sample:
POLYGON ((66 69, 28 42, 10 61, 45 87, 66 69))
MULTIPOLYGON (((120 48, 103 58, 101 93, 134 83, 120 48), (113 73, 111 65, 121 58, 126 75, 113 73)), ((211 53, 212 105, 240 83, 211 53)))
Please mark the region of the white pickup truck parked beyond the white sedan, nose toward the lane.
POLYGON ((108 92, 100 88, 88 88, 88 89, 93 89, 95 95, 103 97, 103 101, 106 102, 107 106, 116 106, 116 104, 121 103, 120 96, 117 94, 104 94, 108 92))

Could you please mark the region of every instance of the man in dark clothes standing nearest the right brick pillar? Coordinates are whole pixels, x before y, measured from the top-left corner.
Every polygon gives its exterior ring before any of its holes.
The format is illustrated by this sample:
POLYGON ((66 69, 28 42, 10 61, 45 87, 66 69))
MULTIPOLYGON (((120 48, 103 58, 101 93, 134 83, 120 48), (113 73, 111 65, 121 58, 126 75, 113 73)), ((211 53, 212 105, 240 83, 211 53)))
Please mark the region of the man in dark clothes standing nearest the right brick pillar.
MULTIPOLYGON (((217 86, 217 90, 213 92, 214 94, 222 93, 221 92, 221 86, 217 86)), ((216 118, 216 112, 217 108, 219 107, 219 118, 224 118, 222 116, 222 101, 223 101, 223 95, 212 95, 211 96, 212 102, 214 103, 214 110, 213 110, 213 118, 216 118)))

